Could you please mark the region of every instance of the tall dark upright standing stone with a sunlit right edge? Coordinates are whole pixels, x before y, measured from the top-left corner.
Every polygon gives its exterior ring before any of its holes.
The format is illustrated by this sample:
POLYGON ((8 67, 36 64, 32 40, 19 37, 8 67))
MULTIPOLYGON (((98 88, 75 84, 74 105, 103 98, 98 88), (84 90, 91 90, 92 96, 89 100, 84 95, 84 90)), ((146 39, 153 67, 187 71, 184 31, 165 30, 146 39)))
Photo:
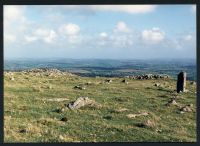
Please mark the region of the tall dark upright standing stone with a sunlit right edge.
POLYGON ((177 80, 177 93, 185 92, 186 87, 186 72, 180 72, 177 80))

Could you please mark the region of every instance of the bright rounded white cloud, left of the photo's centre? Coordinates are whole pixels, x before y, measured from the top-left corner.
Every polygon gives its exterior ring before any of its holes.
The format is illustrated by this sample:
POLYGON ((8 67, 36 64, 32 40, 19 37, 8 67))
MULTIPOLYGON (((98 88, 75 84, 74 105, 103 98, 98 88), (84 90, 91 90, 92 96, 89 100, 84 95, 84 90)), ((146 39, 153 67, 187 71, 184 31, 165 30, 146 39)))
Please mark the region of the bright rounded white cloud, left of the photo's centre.
POLYGON ((77 35, 80 31, 80 27, 77 24, 68 23, 61 26, 59 30, 67 35, 77 35))

